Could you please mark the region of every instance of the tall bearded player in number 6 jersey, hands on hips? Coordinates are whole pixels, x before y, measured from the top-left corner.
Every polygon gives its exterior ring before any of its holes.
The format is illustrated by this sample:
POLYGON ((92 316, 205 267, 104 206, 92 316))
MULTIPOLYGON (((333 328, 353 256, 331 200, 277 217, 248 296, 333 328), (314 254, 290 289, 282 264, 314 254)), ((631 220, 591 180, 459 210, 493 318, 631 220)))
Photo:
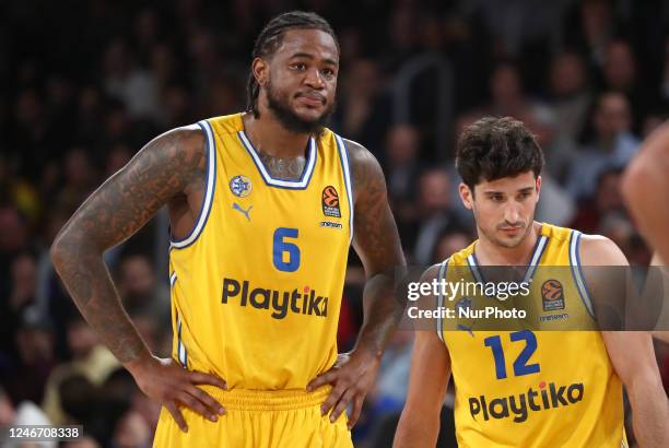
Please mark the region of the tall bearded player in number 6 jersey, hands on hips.
POLYGON ((154 447, 352 446, 401 316, 394 274, 404 261, 378 162, 325 127, 338 72, 322 17, 272 19, 253 50, 247 110, 151 141, 54 243, 84 317, 164 405, 154 447), (141 340, 102 260, 164 204, 168 359, 141 340), (338 354, 351 244, 367 276, 364 322, 354 349, 338 354))

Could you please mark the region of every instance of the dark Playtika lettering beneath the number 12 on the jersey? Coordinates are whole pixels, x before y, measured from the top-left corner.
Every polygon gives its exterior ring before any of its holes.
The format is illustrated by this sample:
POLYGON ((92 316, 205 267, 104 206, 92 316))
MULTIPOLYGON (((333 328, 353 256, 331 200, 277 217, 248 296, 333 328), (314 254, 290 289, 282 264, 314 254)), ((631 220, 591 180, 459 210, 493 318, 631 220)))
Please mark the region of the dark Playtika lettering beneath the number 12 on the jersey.
POLYGON ((512 418, 516 423, 527 420, 529 412, 545 411, 578 403, 583 400, 583 382, 568 386, 549 385, 539 382, 539 390, 529 388, 527 392, 517 396, 500 397, 488 400, 485 396, 469 398, 469 413, 473 420, 483 415, 484 421, 490 418, 512 418))

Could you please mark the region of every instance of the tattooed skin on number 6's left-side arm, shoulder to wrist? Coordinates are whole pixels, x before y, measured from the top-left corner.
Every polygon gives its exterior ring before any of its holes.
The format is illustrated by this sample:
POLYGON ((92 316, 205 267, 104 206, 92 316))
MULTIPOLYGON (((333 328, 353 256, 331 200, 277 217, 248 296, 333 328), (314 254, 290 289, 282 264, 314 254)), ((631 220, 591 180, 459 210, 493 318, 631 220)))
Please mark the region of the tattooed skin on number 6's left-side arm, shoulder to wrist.
POLYGON ((60 231, 52 258, 91 327, 121 363, 145 345, 124 310, 102 254, 143 226, 171 199, 203 189, 203 138, 178 130, 151 141, 99 187, 60 231))

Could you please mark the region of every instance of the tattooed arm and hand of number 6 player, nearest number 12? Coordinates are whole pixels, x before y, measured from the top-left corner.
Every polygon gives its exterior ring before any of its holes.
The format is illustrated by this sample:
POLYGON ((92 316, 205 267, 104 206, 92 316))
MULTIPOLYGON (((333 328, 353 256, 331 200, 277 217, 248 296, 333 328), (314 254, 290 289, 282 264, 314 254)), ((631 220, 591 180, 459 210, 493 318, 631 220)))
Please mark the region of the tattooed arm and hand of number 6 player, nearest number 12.
POLYGON ((398 269, 403 272, 406 262, 378 162, 355 142, 347 140, 347 146, 355 202, 353 247, 367 278, 363 292, 364 321, 353 351, 340 355, 334 368, 312 381, 309 389, 325 384, 333 386, 321 406, 324 414, 332 409, 332 421, 353 402, 349 417, 349 427, 352 427, 401 317, 402 307, 395 298, 395 280, 398 269))

